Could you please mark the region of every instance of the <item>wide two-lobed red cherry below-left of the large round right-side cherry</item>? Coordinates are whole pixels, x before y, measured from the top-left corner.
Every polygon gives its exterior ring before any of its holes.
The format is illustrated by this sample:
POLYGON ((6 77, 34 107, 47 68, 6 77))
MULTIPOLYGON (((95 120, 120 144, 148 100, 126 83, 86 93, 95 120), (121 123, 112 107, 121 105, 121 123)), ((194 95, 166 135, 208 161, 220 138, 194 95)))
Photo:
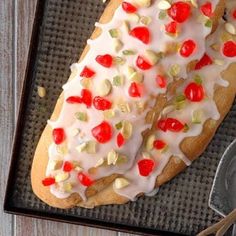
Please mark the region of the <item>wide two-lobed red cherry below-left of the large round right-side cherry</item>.
POLYGON ((157 123, 157 128, 166 132, 167 130, 171 132, 180 132, 184 129, 184 124, 174 118, 167 118, 164 120, 159 120, 157 123))

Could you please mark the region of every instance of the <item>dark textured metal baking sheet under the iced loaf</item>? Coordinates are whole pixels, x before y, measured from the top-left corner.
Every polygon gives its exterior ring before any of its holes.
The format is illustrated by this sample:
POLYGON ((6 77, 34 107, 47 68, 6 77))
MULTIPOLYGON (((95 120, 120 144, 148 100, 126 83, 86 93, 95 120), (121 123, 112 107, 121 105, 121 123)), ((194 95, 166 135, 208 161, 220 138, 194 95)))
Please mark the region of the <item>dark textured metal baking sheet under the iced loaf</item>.
POLYGON ((236 105, 201 158, 154 197, 140 197, 121 206, 60 210, 47 206, 32 192, 30 169, 40 134, 69 77, 69 66, 79 59, 104 7, 101 0, 38 1, 4 209, 133 233, 196 235, 219 220, 208 207, 208 197, 220 157, 236 135, 236 105), (47 89, 44 99, 37 95, 37 86, 47 89))

